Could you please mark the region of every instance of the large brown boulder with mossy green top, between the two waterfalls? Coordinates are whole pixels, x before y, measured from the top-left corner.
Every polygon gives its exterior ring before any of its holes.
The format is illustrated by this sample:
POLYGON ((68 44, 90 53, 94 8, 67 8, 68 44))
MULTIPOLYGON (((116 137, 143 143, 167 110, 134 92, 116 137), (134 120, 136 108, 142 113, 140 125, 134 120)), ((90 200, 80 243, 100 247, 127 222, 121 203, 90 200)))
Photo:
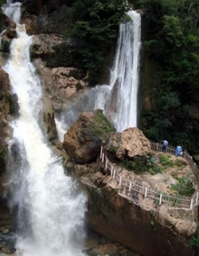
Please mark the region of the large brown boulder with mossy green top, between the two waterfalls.
POLYGON ((83 112, 64 135, 64 148, 77 163, 92 162, 107 133, 113 131, 102 110, 83 112))

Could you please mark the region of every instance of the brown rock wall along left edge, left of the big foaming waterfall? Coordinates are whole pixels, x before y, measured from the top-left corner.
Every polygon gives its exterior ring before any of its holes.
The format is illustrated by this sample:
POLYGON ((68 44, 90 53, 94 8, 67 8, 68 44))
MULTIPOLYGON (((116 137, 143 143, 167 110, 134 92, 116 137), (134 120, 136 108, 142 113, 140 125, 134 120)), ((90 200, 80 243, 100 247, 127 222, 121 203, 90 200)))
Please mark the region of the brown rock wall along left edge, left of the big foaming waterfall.
MULTIPOLYGON (((10 93, 9 75, 0 68, 0 245, 3 250, 13 252, 13 243, 10 241, 10 225, 12 224, 12 214, 5 199, 5 184, 7 181, 6 160, 7 141, 11 133, 9 127, 9 115, 14 113, 14 104, 10 93), (12 248, 11 248, 12 247, 12 248)), ((1 249, 1 248, 0 248, 1 249)))

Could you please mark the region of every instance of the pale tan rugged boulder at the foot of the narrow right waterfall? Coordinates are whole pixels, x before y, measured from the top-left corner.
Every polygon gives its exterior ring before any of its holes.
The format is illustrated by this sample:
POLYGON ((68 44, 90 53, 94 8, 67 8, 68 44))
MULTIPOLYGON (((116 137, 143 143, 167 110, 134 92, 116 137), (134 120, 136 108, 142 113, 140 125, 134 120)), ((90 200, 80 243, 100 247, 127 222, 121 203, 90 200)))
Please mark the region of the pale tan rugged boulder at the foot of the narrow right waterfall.
POLYGON ((110 133, 106 148, 114 151, 118 159, 142 156, 151 151, 151 142, 138 128, 128 128, 122 133, 110 133))

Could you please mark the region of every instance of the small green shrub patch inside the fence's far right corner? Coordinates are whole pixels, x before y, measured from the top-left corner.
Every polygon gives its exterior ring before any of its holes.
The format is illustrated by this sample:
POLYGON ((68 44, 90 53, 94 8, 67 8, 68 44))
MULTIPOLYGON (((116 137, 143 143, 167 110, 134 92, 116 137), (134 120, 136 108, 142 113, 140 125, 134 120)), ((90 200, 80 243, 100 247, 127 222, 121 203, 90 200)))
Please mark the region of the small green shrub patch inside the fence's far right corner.
POLYGON ((192 177, 180 177, 177 178, 178 184, 172 185, 172 189, 177 191, 182 196, 191 196, 194 193, 192 177))

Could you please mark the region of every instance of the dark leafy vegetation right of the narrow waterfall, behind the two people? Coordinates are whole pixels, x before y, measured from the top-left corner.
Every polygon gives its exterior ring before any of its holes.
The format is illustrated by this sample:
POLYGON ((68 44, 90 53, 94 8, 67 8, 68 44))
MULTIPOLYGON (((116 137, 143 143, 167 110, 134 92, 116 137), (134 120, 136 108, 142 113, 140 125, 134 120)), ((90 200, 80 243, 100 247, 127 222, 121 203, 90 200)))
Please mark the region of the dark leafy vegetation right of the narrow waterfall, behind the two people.
POLYGON ((197 154, 199 141, 199 1, 138 0, 144 52, 155 64, 151 108, 142 115, 148 138, 181 144, 197 154))

